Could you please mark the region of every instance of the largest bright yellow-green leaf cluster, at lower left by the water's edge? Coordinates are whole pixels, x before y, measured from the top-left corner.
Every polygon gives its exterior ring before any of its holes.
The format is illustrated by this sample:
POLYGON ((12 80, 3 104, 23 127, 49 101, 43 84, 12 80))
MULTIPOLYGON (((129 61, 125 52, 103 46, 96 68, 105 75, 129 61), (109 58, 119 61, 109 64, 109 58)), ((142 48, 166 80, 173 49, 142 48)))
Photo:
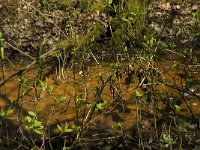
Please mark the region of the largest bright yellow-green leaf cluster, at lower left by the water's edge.
POLYGON ((44 125, 41 121, 38 120, 37 114, 33 111, 28 111, 28 115, 25 117, 25 121, 27 122, 26 129, 33 131, 37 134, 42 134, 44 125))

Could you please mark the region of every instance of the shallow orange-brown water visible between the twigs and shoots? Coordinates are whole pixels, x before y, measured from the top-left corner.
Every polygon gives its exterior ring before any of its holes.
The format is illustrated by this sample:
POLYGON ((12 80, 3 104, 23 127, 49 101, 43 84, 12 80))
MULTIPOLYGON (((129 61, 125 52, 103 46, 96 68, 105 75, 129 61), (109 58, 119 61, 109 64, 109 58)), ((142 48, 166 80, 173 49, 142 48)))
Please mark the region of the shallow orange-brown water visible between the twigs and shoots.
MULTIPOLYGON (((125 68, 127 65, 127 63, 122 63, 122 68, 125 68)), ((173 65, 174 62, 157 62, 159 70, 163 71, 162 76, 165 81, 173 84, 176 83, 177 86, 180 86, 182 81, 177 73, 182 72, 183 66, 177 65, 176 67, 173 67, 173 65)), ((134 69, 138 70, 138 66, 135 65, 134 69)), ((73 73, 72 69, 68 68, 65 70, 65 79, 59 83, 55 83, 55 74, 49 75, 45 78, 44 82, 46 82, 48 86, 54 87, 55 90, 52 94, 49 94, 42 89, 35 90, 36 84, 34 84, 34 79, 37 76, 37 71, 32 70, 25 75, 28 91, 21 101, 18 101, 19 96, 22 95, 22 91, 19 91, 18 77, 6 83, 5 87, 0 87, 0 107, 4 109, 6 107, 6 100, 9 101, 9 105, 15 110, 13 119, 11 120, 13 125, 16 125, 16 116, 20 105, 23 110, 22 116, 26 116, 28 111, 36 110, 39 120, 44 124, 51 126, 52 130, 56 132, 56 124, 77 123, 77 115, 79 123, 86 118, 89 109, 85 107, 85 105, 79 105, 81 100, 82 102, 95 103, 94 93, 96 87, 101 83, 100 76, 106 81, 112 72, 111 70, 109 63, 103 63, 98 66, 89 66, 85 70, 84 75, 82 72, 73 73), (39 98, 36 96, 38 93, 40 93, 39 98), (63 101, 55 100, 55 97, 58 98, 58 93, 61 93, 61 95, 65 97, 63 101), (75 107, 75 105, 77 105, 77 107, 75 107)), ((15 72, 12 67, 7 67, 4 71, 5 77, 15 72)), ((3 80, 2 74, 0 79, 3 80)), ((106 107, 104 111, 95 111, 95 114, 90 121, 90 125, 108 128, 124 121, 125 126, 132 126, 137 120, 137 108, 142 111, 150 112, 149 114, 152 113, 150 109, 145 108, 142 105, 136 105, 134 98, 135 91, 137 90, 143 93, 143 91, 137 87, 138 79, 136 77, 134 77, 134 82, 128 85, 124 84, 124 78, 117 79, 113 76, 112 79, 113 82, 115 82, 116 89, 121 94, 121 98, 118 100, 113 99, 112 93, 110 92, 110 86, 107 84, 102 92, 102 100, 107 102, 108 107, 106 107), (124 107, 122 107, 122 100, 124 102, 124 107)), ((156 86, 157 93, 166 91, 173 95, 178 95, 178 91, 176 90, 160 85, 156 86)), ((158 98, 158 96, 156 98, 158 98)), ((193 113, 200 114, 200 101, 194 97, 189 97, 187 100, 193 113)), ((162 107, 162 104, 160 107, 162 107)), ((189 110, 184 103, 181 107, 184 110, 182 114, 190 116, 189 110)))

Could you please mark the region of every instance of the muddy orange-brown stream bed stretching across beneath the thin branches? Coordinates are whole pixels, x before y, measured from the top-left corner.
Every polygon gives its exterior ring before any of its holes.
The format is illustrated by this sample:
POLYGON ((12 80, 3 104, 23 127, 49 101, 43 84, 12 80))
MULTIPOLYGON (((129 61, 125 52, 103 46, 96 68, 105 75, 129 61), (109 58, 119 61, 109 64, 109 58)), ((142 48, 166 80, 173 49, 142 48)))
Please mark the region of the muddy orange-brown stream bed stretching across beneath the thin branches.
MULTIPOLYGON (((156 64, 166 82, 177 86, 184 84, 177 75, 183 71, 182 65, 174 67, 173 62, 156 64)), ((122 123, 123 127, 131 127, 138 120, 143 120, 142 126, 151 128, 154 126, 154 112, 151 110, 153 104, 149 101, 148 95, 136 98, 137 92, 145 94, 145 91, 138 86, 139 81, 135 73, 131 82, 126 83, 124 70, 127 66, 128 63, 121 64, 122 77, 116 76, 109 63, 102 63, 87 66, 85 70, 79 71, 67 68, 62 72, 46 76, 42 82, 37 80, 38 71, 32 70, 24 74, 24 85, 19 83, 20 77, 16 76, 0 87, 0 107, 2 110, 6 110, 6 107, 13 109, 14 112, 10 115, 12 119, 8 121, 8 126, 12 129, 17 129, 19 125, 24 129, 26 125, 24 117, 28 115, 28 111, 33 111, 37 112, 38 120, 48 127, 46 130, 49 130, 48 134, 51 135, 59 133, 57 125, 66 124, 84 125, 85 128, 91 127, 102 131, 120 129, 122 123), (99 103, 105 106, 92 110, 92 106, 99 103), (20 119, 21 124, 19 124, 20 119)), ((135 72, 138 68, 138 65, 134 66, 135 72)), ((6 67, 4 76, 8 77, 17 69, 6 67)), ((2 73, 0 79, 3 80, 2 73)), ((166 92, 174 96, 180 94, 180 91, 162 85, 156 85, 155 89, 157 93, 155 98, 160 109, 165 105, 161 102, 159 94, 166 92)), ((180 105, 182 111, 178 115, 191 117, 190 111, 192 111, 198 116, 199 99, 193 96, 187 96, 185 99, 187 103, 182 102, 180 105), (188 105, 191 110, 188 109, 188 105)), ((173 115, 173 112, 171 114, 173 115)))

